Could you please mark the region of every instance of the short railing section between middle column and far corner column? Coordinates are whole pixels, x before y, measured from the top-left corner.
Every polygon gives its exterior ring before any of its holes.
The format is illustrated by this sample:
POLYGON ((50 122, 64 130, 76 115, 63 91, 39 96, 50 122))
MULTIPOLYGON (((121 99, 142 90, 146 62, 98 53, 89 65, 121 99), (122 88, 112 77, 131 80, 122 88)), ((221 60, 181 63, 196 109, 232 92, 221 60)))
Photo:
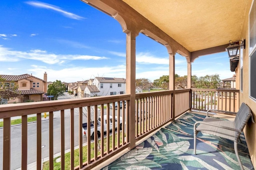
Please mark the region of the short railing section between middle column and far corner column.
POLYGON ((190 109, 190 89, 175 90, 175 115, 174 118, 190 109))

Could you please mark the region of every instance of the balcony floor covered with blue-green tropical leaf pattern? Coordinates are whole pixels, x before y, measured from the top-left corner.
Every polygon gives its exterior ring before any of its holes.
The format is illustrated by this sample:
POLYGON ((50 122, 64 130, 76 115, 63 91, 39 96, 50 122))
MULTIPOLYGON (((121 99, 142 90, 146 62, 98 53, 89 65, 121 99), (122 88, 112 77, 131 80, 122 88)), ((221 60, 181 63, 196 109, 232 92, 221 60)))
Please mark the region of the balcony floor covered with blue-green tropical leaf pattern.
MULTIPOLYGON (((234 142, 209 134, 197 135, 197 155, 194 155, 193 126, 204 115, 185 113, 179 119, 161 128, 153 136, 121 156, 106 169, 216 169, 239 170, 234 142)), ((244 169, 254 169, 243 133, 238 144, 244 169)))

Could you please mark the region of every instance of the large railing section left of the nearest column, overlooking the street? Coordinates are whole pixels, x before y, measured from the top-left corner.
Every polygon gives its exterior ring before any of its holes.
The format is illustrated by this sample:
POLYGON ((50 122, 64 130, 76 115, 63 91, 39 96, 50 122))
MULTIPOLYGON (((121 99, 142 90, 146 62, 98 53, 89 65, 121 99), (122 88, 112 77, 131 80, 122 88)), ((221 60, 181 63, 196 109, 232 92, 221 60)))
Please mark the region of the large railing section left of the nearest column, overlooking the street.
MULTIPOLYGON (((124 148, 128 147, 129 139, 126 136, 129 135, 128 124, 125 122, 128 121, 129 117, 128 114, 125 113, 125 109, 122 109, 122 113, 120 113, 120 106, 118 106, 118 110, 112 109, 112 113, 110 112, 110 105, 115 105, 115 102, 124 103, 126 101, 126 107, 129 107, 129 100, 130 95, 115 95, 115 96, 108 96, 108 97, 92 97, 87 99, 65 99, 59 101, 44 101, 44 102, 35 102, 35 103, 18 103, 18 104, 8 104, 8 105, 0 105, 0 119, 3 119, 3 145, 0 150, 3 150, 2 157, 2 168, 4 170, 10 170, 11 164, 14 161, 20 160, 11 160, 11 117, 22 116, 22 126, 21 126, 21 168, 26 170, 28 164, 28 157, 32 154, 32 152, 36 152, 36 166, 37 169, 42 168, 42 138, 49 139, 49 162, 48 167, 44 167, 45 169, 54 169, 54 147, 56 145, 60 145, 60 168, 62 170, 65 169, 65 150, 66 148, 70 148, 70 160, 68 160, 68 164, 70 164, 70 169, 80 169, 80 168, 88 168, 95 167, 96 165, 104 162, 113 154, 116 154, 123 150, 124 148), (106 109, 104 109, 104 106, 106 109), (60 113, 56 113, 59 111, 60 113), (42 113, 49 113, 49 136, 42 136, 42 113), (78 112, 76 117, 74 117, 74 113, 78 112), (28 115, 36 114, 37 122, 36 122, 36 150, 29 150, 28 149, 28 115), (54 126, 54 115, 60 114, 60 127, 54 126), (110 129, 110 121, 106 122, 106 138, 104 138, 104 121, 100 121, 100 127, 94 126, 94 133, 92 135, 90 133, 90 123, 88 123, 88 130, 87 130, 87 147, 83 147, 83 134, 82 134, 82 124, 83 121, 94 123, 97 122, 99 116, 101 116, 101 120, 104 117, 104 114, 107 117, 107 120, 110 120, 109 117, 112 115, 112 129, 110 129), (65 115, 65 117, 64 117, 65 115), (83 116, 86 117, 83 117, 83 116), (117 120, 113 121, 115 116, 117 116, 117 120), (70 123, 66 125, 66 117, 69 117, 70 123), (122 117, 122 121, 120 121, 120 117, 122 117), (84 120, 83 120, 84 118, 84 120), (77 119, 78 123, 74 123, 77 119), (117 123, 117 130, 115 129, 115 124, 117 123), (74 126, 78 124, 78 132, 74 131, 74 126), (65 127, 69 126, 70 136, 67 136, 67 132, 65 132, 65 127), (56 134, 54 134, 54 127, 60 128, 60 139, 58 139, 56 134), (112 135, 110 134, 112 130, 112 135), (99 133, 99 136, 96 135, 99 133), (115 132, 117 131, 117 132, 115 132), (66 136, 65 136, 66 134, 66 136), (94 138, 91 138, 94 137, 94 138), (67 142, 66 138, 69 139, 70 137, 70 146, 65 146, 67 142), (91 142, 91 139, 94 141, 91 142), (55 141, 55 142, 54 142, 55 141), (56 141, 59 141, 56 143, 56 141), (78 141, 78 142, 76 142, 78 141), (75 144, 76 142, 76 144, 75 144), (78 148, 78 155, 79 161, 78 164, 75 164, 74 160, 74 147, 78 148), (85 158, 87 157, 86 161, 85 158)), ((123 106, 124 108, 124 106, 123 106)), ((44 122, 45 123, 45 122, 44 122)), ((19 140, 15 141, 16 143, 19 140)), ((12 142, 14 143, 14 142, 12 142)), ((18 144, 18 143, 17 143, 18 144)), ((0 146, 1 147, 1 146, 0 146)), ((32 147, 32 146, 29 146, 32 147)), ((13 150, 12 150, 13 153, 13 150)), ((17 150, 17 153, 20 154, 20 150, 17 150)))

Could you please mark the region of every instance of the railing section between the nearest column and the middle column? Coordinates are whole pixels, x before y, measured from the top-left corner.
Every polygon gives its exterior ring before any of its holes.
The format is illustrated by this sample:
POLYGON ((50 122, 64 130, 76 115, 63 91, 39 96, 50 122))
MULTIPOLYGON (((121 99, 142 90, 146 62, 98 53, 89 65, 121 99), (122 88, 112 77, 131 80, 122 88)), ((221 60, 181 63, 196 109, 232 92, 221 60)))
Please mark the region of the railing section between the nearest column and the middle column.
POLYGON ((158 91, 136 94, 136 139, 140 139, 147 132, 159 128, 172 117, 173 91, 158 91))

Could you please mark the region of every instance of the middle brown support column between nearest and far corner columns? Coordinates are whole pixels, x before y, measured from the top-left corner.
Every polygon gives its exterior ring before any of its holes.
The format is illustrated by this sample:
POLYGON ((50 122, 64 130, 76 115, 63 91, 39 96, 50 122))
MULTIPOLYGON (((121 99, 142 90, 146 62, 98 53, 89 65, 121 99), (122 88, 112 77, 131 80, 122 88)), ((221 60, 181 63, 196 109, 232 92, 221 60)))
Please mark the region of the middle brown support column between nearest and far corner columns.
POLYGON ((169 90, 172 94, 172 118, 175 116, 175 54, 169 53, 169 90))

